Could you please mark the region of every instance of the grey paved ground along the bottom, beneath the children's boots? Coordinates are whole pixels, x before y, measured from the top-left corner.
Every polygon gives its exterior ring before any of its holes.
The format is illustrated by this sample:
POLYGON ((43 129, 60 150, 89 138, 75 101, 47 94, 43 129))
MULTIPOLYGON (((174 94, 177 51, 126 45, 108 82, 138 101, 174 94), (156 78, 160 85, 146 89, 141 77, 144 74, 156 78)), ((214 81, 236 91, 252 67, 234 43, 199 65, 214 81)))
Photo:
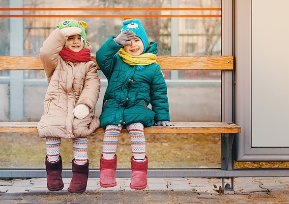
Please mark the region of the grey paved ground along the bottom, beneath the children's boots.
POLYGON ((289 204, 289 177, 235 178, 234 194, 218 193, 219 178, 148 178, 145 190, 132 190, 130 178, 117 178, 117 186, 101 188, 89 178, 82 194, 50 192, 46 178, 0 180, 0 204, 289 204))

